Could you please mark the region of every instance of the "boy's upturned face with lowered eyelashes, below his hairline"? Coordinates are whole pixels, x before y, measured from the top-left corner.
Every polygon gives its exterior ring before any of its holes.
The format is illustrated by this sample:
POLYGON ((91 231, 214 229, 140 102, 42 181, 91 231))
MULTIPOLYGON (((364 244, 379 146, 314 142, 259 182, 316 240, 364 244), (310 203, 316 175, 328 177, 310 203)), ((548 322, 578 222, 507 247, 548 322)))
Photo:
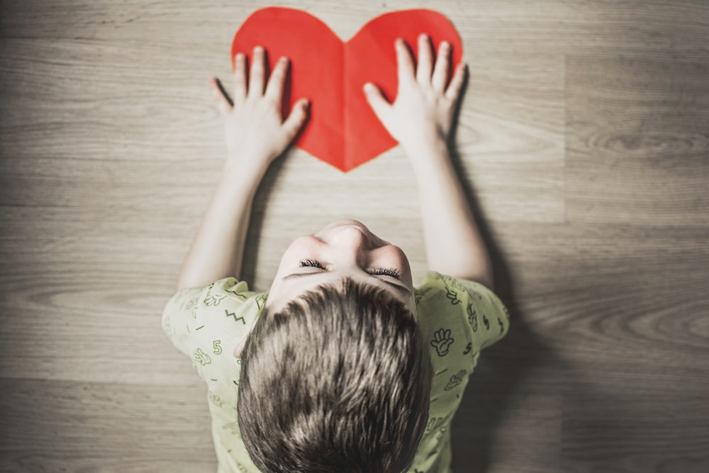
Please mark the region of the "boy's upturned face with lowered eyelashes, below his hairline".
POLYGON ((291 243, 279 265, 267 305, 279 310, 310 289, 345 277, 388 291, 416 314, 411 267, 401 248, 354 220, 342 220, 291 243))

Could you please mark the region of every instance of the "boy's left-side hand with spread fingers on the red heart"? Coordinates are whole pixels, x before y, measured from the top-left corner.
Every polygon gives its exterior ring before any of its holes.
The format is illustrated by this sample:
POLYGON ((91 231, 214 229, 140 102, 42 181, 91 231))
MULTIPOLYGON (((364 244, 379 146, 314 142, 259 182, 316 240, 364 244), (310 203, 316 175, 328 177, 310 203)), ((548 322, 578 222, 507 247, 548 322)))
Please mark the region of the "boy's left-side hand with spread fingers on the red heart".
POLYGON ((224 120, 228 167, 265 172, 294 140, 307 117, 308 101, 300 99, 289 116, 281 117, 281 100, 288 60, 281 57, 265 82, 265 52, 254 48, 247 81, 246 56, 235 57, 233 99, 225 94, 218 79, 209 80, 216 106, 224 120))

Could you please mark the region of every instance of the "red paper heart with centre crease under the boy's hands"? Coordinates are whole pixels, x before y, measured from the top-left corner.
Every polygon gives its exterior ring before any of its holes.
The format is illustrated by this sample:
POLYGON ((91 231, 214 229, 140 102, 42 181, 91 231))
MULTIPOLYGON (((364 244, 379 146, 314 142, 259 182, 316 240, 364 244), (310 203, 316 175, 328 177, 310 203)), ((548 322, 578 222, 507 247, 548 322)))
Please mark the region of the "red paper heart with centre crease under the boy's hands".
POLYGON ((269 7, 252 13, 236 32, 231 48, 250 53, 266 48, 269 67, 281 56, 291 60, 290 89, 284 111, 297 99, 311 101, 310 118, 295 145, 343 172, 374 159, 396 145, 364 99, 366 82, 396 97, 396 55, 393 43, 403 38, 415 53, 420 33, 433 44, 447 40, 452 61, 462 57, 462 41, 450 21, 425 9, 395 11, 374 18, 347 43, 325 23, 305 11, 269 7))

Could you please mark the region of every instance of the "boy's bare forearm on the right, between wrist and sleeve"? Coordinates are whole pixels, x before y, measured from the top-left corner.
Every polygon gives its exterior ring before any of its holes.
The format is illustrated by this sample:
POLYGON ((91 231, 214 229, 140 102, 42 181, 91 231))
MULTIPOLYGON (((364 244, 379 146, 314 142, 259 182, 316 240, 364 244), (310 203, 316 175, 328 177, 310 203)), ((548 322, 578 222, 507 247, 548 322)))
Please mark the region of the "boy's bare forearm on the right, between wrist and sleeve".
POLYGON ((489 252, 445 140, 407 154, 418 181, 429 268, 492 288, 489 252))

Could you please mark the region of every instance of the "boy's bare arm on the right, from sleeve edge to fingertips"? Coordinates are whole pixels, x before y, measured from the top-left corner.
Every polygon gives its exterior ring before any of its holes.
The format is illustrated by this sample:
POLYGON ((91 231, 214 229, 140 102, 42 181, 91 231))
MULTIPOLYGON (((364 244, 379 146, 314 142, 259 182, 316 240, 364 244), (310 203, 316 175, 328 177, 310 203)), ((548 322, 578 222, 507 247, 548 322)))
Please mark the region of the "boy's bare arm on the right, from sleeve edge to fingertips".
POLYGON ((364 93, 411 161, 430 269, 491 288, 490 256, 448 149, 465 67, 458 65, 448 84, 450 45, 441 43, 434 59, 430 39, 421 35, 418 50, 415 67, 403 40, 396 42, 398 94, 393 104, 373 84, 366 84, 364 93))

